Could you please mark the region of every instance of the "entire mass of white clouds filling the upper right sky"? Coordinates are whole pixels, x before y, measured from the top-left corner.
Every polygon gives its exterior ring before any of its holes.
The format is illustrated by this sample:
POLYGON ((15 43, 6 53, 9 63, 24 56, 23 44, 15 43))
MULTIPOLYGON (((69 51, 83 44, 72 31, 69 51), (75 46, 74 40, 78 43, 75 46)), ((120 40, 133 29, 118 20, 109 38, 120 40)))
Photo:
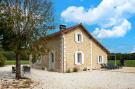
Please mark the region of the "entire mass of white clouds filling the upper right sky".
POLYGON ((97 32, 96 36, 101 38, 124 36, 131 29, 128 18, 132 15, 135 15, 135 0, 102 0, 95 8, 70 6, 61 13, 66 22, 98 24, 100 29, 93 33, 97 32), (103 37, 100 34, 108 35, 103 37))

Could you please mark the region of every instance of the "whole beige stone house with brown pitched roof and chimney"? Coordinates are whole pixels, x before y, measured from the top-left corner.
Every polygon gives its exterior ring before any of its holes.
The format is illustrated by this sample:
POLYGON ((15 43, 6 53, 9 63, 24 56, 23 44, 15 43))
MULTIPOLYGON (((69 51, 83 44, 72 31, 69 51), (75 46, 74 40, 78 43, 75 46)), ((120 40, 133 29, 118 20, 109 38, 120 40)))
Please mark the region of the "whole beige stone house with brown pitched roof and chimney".
POLYGON ((109 51, 82 24, 69 28, 60 25, 60 31, 46 39, 45 45, 49 51, 35 64, 47 70, 100 69, 102 63, 107 63, 109 51))

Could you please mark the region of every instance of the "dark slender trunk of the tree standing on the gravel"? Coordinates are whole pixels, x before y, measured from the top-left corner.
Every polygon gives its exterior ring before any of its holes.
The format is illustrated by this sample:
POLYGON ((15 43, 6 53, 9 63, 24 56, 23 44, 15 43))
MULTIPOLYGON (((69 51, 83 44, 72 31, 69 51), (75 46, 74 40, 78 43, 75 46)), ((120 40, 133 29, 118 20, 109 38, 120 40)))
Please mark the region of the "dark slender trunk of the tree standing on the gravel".
POLYGON ((21 78, 21 69, 20 69, 20 53, 17 51, 16 52, 16 79, 21 78))

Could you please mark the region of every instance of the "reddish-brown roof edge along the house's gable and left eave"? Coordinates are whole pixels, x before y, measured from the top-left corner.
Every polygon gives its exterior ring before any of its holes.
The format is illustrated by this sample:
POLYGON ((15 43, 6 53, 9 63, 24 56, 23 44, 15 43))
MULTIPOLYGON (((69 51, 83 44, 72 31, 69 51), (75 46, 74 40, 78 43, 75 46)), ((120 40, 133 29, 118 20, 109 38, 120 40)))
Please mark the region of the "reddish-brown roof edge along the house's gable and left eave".
POLYGON ((101 47, 107 54, 109 54, 110 52, 100 43, 98 42, 98 40, 96 40, 87 30, 86 28, 80 23, 78 25, 75 25, 75 26, 72 26, 72 27, 69 27, 69 28, 66 28, 65 30, 61 30, 59 32, 55 32, 53 34, 50 34, 48 35, 47 37, 54 37, 54 36, 59 36, 59 35, 62 35, 62 34, 66 34, 68 32, 71 32, 73 30, 76 30, 76 28, 82 28, 82 30, 88 35, 88 37, 90 39, 92 39, 96 44, 99 45, 99 47, 101 47))

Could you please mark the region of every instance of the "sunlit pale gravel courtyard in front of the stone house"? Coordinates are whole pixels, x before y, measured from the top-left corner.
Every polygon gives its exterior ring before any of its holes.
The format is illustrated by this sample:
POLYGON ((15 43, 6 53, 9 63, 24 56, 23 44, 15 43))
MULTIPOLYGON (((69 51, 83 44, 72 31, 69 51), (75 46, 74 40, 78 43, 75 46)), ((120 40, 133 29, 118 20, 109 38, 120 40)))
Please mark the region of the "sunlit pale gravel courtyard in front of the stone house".
POLYGON ((40 81, 35 89, 135 89, 135 73, 128 72, 93 70, 63 74, 32 69, 26 76, 40 81))

